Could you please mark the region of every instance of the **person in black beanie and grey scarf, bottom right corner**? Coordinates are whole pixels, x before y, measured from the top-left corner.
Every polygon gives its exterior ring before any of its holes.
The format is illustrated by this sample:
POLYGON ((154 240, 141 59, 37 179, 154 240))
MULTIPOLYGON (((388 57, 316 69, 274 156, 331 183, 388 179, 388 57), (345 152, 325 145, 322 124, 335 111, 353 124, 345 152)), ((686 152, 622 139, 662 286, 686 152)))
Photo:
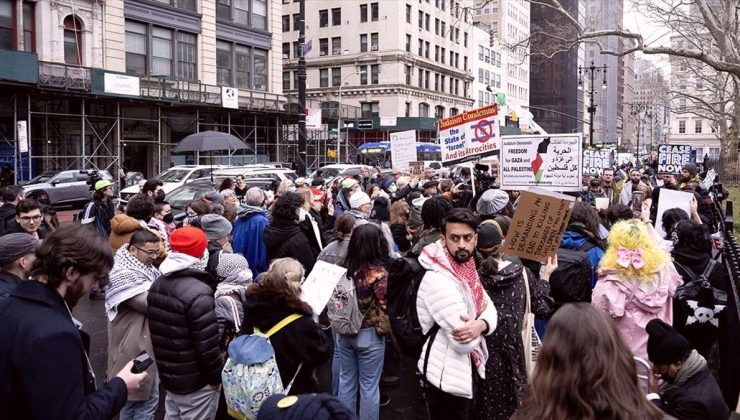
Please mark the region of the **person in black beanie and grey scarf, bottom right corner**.
POLYGON ((678 419, 724 420, 730 411, 707 361, 670 325, 653 319, 645 326, 653 363, 647 398, 678 419), (658 385, 658 379, 663 382, 658 385))

